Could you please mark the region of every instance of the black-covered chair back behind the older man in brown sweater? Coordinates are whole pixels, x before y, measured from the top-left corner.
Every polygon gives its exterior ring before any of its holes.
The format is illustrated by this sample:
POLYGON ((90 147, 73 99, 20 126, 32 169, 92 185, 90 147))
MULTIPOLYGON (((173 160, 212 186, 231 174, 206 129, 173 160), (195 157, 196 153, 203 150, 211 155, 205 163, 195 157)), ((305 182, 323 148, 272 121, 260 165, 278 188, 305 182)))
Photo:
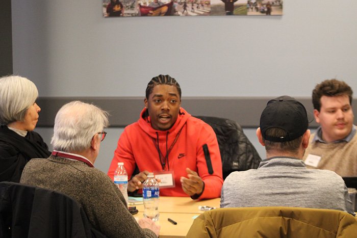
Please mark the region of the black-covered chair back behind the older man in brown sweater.
POLYGON ((0 237, 106 237, 91 227, 82 206, 65 194, 0 182, 0 237))

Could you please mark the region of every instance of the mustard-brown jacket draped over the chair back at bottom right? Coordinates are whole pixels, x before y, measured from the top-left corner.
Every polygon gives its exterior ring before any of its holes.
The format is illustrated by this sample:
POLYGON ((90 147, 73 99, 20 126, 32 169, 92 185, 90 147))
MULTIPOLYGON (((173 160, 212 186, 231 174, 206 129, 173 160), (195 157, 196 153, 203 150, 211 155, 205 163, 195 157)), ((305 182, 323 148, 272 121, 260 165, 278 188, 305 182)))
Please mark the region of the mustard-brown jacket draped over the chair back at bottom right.
POLYGON ((339 210, 236 207, 206 211, 186 237, 357 237, 357 219, 339 210))

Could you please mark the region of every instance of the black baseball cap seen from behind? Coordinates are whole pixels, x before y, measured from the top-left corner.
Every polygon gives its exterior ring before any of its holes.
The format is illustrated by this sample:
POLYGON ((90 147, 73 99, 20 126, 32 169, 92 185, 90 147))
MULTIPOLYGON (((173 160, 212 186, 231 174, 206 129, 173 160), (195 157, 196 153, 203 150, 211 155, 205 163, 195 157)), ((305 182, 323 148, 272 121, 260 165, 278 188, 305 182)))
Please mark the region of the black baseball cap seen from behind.
POLYGON ((265 140, 273 142, 292 141, 302 136, 308 129, 309 119, 305 107, 293 97, 280 96, 268 101, 260 117, 260 129, 265 140), (286 131, 286 137, 270 137, 265 133, 269 128, 286 131))

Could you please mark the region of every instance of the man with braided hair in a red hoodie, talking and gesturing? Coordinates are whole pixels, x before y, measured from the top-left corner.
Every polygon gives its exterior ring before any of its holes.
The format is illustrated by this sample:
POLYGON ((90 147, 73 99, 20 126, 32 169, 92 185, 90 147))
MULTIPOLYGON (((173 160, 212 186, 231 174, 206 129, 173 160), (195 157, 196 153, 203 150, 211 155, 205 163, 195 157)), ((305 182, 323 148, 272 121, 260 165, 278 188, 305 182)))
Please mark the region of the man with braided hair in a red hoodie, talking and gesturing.
POLYGON ((146 88, 145 108, 137 122, 126 126, 110 165, 113 179, 123 162, 128 191, 142 188, 148 172, 161 179, 161 196, 192 199, 220 197, 222 162, 212 127, 181 108, 181 88, 169 75, 152 78, 146 88))

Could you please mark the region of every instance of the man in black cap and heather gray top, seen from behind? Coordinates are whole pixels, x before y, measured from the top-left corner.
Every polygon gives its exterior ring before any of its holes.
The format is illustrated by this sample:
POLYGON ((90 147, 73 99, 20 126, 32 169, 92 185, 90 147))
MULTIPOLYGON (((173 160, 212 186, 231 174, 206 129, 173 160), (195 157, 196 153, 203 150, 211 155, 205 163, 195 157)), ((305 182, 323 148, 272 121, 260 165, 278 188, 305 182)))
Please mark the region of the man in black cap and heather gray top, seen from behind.
POLYGON ((258 169, 226 177, 221 207, 310 207, 353 214, 343 179, 329 170, 308 169, 302 161, 309 144, 308 126, 307 111, 295 98, 280 96, 268 101, 257 129, 267 158, 258 169))

